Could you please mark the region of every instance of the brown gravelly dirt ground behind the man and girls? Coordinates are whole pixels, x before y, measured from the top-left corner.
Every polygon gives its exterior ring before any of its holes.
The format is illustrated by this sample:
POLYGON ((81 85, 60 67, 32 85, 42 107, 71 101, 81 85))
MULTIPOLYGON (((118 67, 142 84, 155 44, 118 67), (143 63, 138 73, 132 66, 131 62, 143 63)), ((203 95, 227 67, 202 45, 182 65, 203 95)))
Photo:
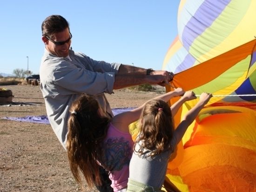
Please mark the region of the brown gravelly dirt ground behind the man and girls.
MULTIPOLYGON (((67 156, 50 125, 2 119, 46 115, 39 86, 1 86, 13 92, 13 102, 36 105, 0 105, 0 192, 82 191, 70 172, 67 156)), ((164 93, 128 89, 107 94, 112 108, 136 107, 164 93)), ((85 192, 98 192, 84 184, 85 192)))

